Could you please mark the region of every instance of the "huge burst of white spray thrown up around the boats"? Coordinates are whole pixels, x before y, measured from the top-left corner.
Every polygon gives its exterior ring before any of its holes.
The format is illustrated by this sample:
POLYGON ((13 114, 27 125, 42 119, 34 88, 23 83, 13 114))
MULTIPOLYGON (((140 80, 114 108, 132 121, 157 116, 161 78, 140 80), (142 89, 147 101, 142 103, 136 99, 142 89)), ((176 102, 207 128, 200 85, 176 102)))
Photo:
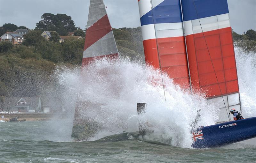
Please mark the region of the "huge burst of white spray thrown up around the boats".
MULTIPOLYGON (((256 115, 255 54, 244 54, 239 48, 235 48, 235 52, 243 116, 252 117, 256 115)), ((202 109, 196 127, 215 124, 218 119, 212 110, 214 106, 207 104, 203 95, 182 90, 167 74, 163 74, 165 102, 159 71, 125 58, 118 61, 103 58, 82 71, 80 67, 60 66, 55 76, 62 85, 62 101, 69 108, 69 116, 57 119, 53 129, 61 132, 59 141, 70 140, 77 98, 94 104, 84 114, 85 119, 93 119, 100 125, 91 141, 122 131, 138 131, 138 122, 142 120, 154 130, 147 136, 148 140, 190 148, 190 124, 197 110, 202 109), (147 109, 145 115, 138 116, 136 103, 140 102, 146 102, 147 109), (65 127, 58 125, 63 121, 67 124, 65 127)))

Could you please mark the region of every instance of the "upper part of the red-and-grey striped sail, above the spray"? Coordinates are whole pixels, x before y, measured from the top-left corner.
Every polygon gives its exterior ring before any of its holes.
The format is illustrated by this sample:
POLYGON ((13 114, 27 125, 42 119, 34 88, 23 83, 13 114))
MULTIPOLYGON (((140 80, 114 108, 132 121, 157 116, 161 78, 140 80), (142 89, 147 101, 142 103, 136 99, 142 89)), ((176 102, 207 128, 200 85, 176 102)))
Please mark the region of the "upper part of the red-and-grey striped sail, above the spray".
POLYGON ((104 56, 118 56, 116 42, 103 1, 91 0, 82 65, 104 56))

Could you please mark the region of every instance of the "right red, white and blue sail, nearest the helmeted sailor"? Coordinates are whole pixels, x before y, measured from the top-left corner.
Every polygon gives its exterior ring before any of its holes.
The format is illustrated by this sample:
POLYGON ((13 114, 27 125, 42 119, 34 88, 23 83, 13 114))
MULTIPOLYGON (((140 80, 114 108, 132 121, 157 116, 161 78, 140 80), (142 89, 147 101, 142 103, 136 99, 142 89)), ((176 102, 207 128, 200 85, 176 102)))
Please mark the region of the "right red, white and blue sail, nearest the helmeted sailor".
POLYGON ((181 0, 181 4, 191 86, 206 93, 220 109, 220 120, 225 120, 226 108, 241 111, 227 0, 181 0))

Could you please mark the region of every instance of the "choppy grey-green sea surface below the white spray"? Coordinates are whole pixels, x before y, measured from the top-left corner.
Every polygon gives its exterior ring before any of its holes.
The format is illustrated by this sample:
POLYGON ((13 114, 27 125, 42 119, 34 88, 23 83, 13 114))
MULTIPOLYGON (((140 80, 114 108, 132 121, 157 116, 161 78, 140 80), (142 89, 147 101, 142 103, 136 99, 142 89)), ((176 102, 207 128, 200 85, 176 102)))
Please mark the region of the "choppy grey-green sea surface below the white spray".
POLYGON ((256 148, 187 149, 142 142, 126 133, 91 142, 54 142, 53 122, 0 123, 0 162, 255 162, 256 148))

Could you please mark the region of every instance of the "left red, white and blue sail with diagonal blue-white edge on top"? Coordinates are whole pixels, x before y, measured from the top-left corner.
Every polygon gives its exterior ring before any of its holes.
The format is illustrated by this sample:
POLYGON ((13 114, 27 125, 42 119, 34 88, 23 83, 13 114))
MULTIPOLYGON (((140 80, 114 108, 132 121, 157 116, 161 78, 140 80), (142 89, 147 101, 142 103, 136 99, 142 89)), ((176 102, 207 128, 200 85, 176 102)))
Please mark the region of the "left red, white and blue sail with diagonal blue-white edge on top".
POLYGON ((145 60, 189 87, 180 0, 139 0, 145 60))

